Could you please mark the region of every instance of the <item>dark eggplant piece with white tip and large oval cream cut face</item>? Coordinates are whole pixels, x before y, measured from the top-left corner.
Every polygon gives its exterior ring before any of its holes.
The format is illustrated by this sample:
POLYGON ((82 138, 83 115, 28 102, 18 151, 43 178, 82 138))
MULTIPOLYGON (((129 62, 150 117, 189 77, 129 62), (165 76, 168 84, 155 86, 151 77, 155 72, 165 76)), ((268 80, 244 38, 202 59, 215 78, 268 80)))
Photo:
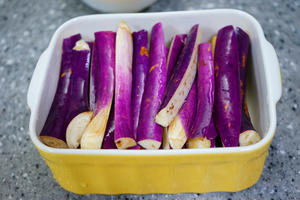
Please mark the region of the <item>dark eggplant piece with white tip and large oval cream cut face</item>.
POLYGON ((90 52, 90 46, 84 40, 78 40, 73 48, 69 111, 65 119, 68 125, 66 141, 69 148, 79 146, 83 131, 91 119, 91 112, 88 111, 90 52))

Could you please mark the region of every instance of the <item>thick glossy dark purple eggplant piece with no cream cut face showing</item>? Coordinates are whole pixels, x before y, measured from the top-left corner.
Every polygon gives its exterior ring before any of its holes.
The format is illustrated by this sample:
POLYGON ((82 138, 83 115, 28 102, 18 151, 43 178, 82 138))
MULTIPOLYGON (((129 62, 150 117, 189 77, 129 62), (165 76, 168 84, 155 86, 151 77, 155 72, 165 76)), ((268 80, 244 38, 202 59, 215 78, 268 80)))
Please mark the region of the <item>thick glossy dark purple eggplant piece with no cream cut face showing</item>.
POLYGON ((235 147, 241 128, 241 95, 238 44, 233 26, 218 31, 214 56, 214 123, 223 145, 235 147))

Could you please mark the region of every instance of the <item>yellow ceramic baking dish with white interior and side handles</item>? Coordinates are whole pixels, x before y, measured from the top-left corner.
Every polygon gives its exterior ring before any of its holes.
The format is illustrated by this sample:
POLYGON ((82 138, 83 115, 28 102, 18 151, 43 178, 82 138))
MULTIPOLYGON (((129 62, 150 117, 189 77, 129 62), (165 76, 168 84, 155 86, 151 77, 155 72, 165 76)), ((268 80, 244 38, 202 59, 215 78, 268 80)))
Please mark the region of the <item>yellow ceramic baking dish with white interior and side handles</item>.
POLYGON ((182 193, 240 191, 254 185, 263 170, 276 129, 276 103, 281 96, 279 63, 273 46, 251 15, 233 9, 183 12, 104 14, 71 19, 60 26, 41 55, 29 86, 29 134, 35 147, 66 190, 78 193, 182 193), (247 101, 254 127, 263 139, 246 147, 181 150, 55 149, 40 142, 57 87, 62 40, 81 33, 93 40, 100 30, 116 30, 126 21, 132 31, 151 30, 162 22, 166 41, 202 27, 202 42, 226 25, 239 26, 251 39, 247 101))

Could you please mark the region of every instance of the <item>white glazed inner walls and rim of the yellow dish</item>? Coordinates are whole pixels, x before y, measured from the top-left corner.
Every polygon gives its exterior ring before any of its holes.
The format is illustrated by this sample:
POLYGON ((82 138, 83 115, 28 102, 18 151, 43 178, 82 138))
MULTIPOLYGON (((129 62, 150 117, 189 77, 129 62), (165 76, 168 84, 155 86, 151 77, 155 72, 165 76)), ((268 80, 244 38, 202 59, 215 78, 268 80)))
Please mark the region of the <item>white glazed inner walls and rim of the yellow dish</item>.
MULTIPOLYGON (((90 15, 74 18, 63 24, 54 34, 49 47, 41 56, 33 76, 39 78, 32 80, 30 89, 35 90, 35 96, 28 94, 28 101, 36 98, 31 107, 30 135, 38 148, 54 153, 75 154, 127 154, 127 155, 161 155, 161 154, 188 154, 188 153, 224 153, 249 151, 272 139, 276 126, 276 101, 270 93, 267 84, 266 51, 267 41, 259 23, 249 14, 232 9, 164 12, 145 14, 107 14, 90 15), (132 31, 146 29, 151 32, 152 26, 162 22, 165 40, 179 33, 187 33, 194 24, 202 27, 202 42, 207 42, 213 34, 226 26, 234 25, 244 29, 251 39, 251 65, 248 73, 247 100, 252 122, 256 130, 263 137, 259 143, 247 147, 214 148, 214 149, 182 149, 182 150, 81 150, 81 149, 55 149, 42 144, 38 135, 44 125, 57 87, 61 61, 62 40, 73 34, 81 33, 83 39, 94 40, 94 32, 102 30, 115 31, 120 21, 126 21, 132 31), (36 81, 38 80, 38 81, 36 81)), ((276 57, 274 59, 277 59, 276 57)), ((33 78, 34 79, 34 78, 33 78)), ((278 99, 277 99, 278 100, 278 99)))

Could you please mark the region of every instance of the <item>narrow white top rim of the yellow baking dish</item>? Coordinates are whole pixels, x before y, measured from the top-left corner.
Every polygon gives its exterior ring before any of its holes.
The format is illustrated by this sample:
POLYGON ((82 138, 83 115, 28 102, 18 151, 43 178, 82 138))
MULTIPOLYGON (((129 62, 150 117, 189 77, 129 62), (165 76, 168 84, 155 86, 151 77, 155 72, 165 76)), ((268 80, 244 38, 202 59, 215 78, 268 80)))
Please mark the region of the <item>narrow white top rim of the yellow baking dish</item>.
MULTIPOLYGON (((262 27, 259 24, 259 22, 250 14, 236 10, 236 9, 210 9, 210 10, 195 10, 195 11, 172 11, 172 12, 152 12, 152 13, 120 13, 120 14, 96 14, 96 15, 86 15, 86 16, 80 16, 76 18, 72 18, 68 21, 66 21, 64 24, 62 24, 53 34, 51 41, 49 43, 49 46, 47 49, 43 52, 42 56, 47 56, 47 54, 50 53, 51 48, 54 48, 55 41, 58 39, 59 35, 61 32, 64 30, 64 27, 68 26, 71 23, 77 23, 78 21, 81 20, 91 20, 93 18, 101 18, 103 16, 105 17, 112 17, 112 18, 117 18, 117 17, 127 17, 127 16, 134 16, 134 17, 139 17, 139 16, 153 16, 155 15, 156 17, 161 15, 174 15, 174 14, 180 14, 182 16, 186 14, 196 14, 196 13, 206 13, 206 14, 214 14, 216 12, 223 12, 225 14, 239 14, 243 15, 244 17, 248 18, 248 20, 255 26, 255 29, 257 31, 257 36, 259 40, 259 45, 261 49, 266 49, 266 45, 268 41, 266 40, 262 27)), ((265 56, 263 57, 265 58, 265 56)), ((264 60, 264 59, 263 59, 264 60)), ((265 66, 264 66, 265 67, 265 66)), ((34 71, 35 73, 36 71, 34 71)), ((32 84, 32 80, 30 85, 32 84)), ((30 86, 31 87, 31 86, 30 86)), ((29 89, 30 89, 29 87, 29 89)), ((269 88, 267 88, 268 93, 269 88)), ((281 96, 281 95, 280 95, 281 96)), ((29 92, 28 92, 28 101, 29 101, 29 92)), ((35 98, 41 98, 41 94, 39 94, 38 97, 35 98)), ((29 106, 31 110, 31 115, 30 115, 30 123, 29 123, 29 135, 30 138, 33 142, 33 144, 38 148, 39 150, 47 153, 53 153, 53 154, 72 154, 72 155, 139 155, 139 156, 162 156, 162 155, 186 155, 186 154, 224 154, 224 153, 246 153, 246 152, 251 152, 258 150, 268 144, 273 136, 275 135, 275 129, 276 129, 276 102, 272 101, 272 98, 270 95, 267 97, 267 102, 268 102, 268 109, 270 112, 270 124, 268 127, 268 130, 266 131, 266 135, 263 137, 261 141, 254 145, 250 146, 245 146, 245 147, 222 147, 222 148, 210 148, 210 149, 172 149, 172 150, 119 150, 119 149, 58 149, 58 148, 52 148, 48 147, 45 144, 43 144, 35 130, 35 125, 36 125, 36 119, 37 119, 37 109, 34 108, 34 106, 29 106)), ((40 99, 37 101, 40 103, 40 99)), ((29 104, 29 103, 28 103, 29 104)), ((35 106, 37 107, 37 106, 35 106)))

